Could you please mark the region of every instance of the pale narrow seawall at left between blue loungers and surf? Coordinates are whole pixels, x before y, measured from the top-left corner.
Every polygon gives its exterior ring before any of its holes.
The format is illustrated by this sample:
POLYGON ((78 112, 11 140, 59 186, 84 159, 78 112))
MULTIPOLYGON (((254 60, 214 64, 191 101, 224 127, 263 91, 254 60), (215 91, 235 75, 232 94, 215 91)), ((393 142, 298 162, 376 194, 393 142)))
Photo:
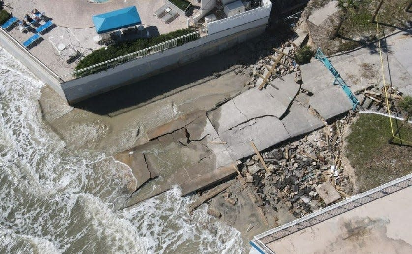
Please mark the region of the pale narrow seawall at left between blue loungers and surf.
POLYGON ((31 55, 18 41, 11 37, 6 31, 0 28, 0 44, 10 54, 23 63, 37 78, 47 85, 50 85, 62 98, 66 96, 60 86, 60 82, 56 74, 48 69, 44 64, 31 55))

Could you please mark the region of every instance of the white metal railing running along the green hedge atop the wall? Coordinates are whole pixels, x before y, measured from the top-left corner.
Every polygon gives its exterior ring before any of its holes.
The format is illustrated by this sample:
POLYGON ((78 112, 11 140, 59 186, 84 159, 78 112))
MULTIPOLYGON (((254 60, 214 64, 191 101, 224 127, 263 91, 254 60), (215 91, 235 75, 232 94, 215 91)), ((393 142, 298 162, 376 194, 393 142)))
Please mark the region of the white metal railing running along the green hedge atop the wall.
POLYGON ((207 28, 200 30, 200 31, 196 31, 193 33, 189 33, 186 35, 183 35, 181 37, 177 37, 175 39, 172 40, 168 40, 165 42, 162 42, 160 44, 154 45, 152 47, 143 49, 143 50, 139 50, 133 53, 129 53, 127 55, 124 56, 119 56, 117 58, 114 59, 110 59, 108 61, 102 62, 102 63, 98 63, 92 66, 89 66, 87 68, 81 69, 81 70, 77 70, 77 71, 73 71, 64 75, 59 76, 60 79, 64 80, 64 81, 68 81, 68 80, 72 80, 74 78, 79 78, 79 77, 83 77, 83 76, 87 76, 93 73, 97 73, 103 70, 107 70, 109 68, 113 68, 117 65, 123 64, 125 62, 143 57, 143 56, 147 56, 159 51, 164 51, 166 49, 170 49, 170 48, 174 48, 177 46, 181 46, 183 44, 186 44, 190 41, 194 41, 198 38, 201 37, 202 33, 207 34, 207 28))

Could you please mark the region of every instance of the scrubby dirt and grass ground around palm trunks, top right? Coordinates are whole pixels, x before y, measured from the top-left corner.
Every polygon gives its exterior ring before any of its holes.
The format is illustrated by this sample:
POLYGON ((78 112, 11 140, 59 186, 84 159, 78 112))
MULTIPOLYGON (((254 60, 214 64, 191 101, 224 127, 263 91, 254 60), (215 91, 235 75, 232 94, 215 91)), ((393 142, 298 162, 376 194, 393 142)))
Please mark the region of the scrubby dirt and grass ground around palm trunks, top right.
MULTIPOLYGON (((312 0, 302 13, 303 20, 307 19, 315 10, 322 8, 329 0, 312 0)), ((325 54, 332 55, 338 52, 349 51, 359 46, 375 41, 378 37, 387 35, 396 29, 409 27, 412 14, 406 12, 407 0, 384 1, 378 14, 379 34, 376 33, 376 23, 372 15, 378 1, 359 1, 353 13, 350 13, 342 24, 338 37, 329 39, 337 27, 343 12, 330 15, 319 26, 306 21, 312 46, 321 47, 325 54)))

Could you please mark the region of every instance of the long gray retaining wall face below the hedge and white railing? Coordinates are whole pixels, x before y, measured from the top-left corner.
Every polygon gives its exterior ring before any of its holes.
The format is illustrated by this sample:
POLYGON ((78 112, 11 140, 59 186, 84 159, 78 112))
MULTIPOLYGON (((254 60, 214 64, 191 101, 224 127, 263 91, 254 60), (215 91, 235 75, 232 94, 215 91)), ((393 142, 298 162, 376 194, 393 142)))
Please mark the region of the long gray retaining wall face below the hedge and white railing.
POLYGON ((176 48, 138 58, 106 71, 62 83, 61 86, 67 100, 76 103, 231 48, 261 34, 267 21, 268 16, 209 34, 176 48))

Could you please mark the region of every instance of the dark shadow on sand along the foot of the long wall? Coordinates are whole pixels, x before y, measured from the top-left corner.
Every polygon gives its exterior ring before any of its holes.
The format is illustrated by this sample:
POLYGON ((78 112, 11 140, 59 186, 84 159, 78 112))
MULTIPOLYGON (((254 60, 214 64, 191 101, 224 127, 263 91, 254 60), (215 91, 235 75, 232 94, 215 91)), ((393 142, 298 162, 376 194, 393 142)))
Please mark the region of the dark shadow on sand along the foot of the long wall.
POLYGON ((202 79, 219 76, 218 73, 234 65, 255 64, 275 46, 276 39, 267 33, 216 55, 158 74, 151 78, 95 96, 73 105, 100 115, 114 116, 177 92, 201 84, 202 79))

